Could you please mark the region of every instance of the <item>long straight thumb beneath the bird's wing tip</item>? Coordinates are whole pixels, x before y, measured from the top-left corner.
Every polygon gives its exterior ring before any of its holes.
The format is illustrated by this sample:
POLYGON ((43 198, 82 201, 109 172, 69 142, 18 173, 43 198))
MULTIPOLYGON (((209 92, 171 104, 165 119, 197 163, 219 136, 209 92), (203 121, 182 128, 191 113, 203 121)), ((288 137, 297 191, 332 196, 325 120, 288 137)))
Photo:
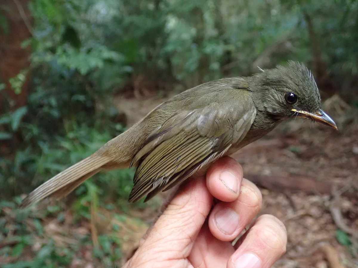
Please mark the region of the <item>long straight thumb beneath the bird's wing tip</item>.
POLYGON ((185 261, 210 212, 212 201, 205 180, 192 179, 171 200, 130 264, 137 267, 155 262, 159 267, 160 262, 165 262, 166 267, 171 267, 169 262, 185 261))

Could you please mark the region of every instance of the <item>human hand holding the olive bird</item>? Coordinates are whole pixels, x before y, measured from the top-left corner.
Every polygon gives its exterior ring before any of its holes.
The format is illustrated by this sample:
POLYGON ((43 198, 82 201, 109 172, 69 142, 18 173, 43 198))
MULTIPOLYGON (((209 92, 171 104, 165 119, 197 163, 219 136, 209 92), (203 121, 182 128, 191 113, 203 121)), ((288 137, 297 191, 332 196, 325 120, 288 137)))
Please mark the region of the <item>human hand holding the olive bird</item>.
POLYGON ((287 244, 286 229, 274 216, 261 215, 231 242, 261 202, 240 164, 223 157, 209 168, 206 181, 192 180, 171 200, 124 267, 271 267, 287 244))

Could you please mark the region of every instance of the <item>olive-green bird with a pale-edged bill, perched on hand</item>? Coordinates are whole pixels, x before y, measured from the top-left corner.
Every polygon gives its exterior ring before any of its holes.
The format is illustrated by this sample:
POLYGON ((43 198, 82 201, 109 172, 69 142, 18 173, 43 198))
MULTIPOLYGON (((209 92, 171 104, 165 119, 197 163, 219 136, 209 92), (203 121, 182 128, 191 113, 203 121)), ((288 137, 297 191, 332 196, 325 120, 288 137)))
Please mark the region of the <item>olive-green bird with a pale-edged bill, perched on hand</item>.
POLYGON ((337 129, 321 109, 311 71, 302 63, 260 69, 249 77, 223 78, 183 91, 82 161, 55 175, 24 198, 28 207, 62 198, 92 175, 136 167, 129 202, 145 201, 210 163, 263 137, 280 122, 306 118, 337 129))

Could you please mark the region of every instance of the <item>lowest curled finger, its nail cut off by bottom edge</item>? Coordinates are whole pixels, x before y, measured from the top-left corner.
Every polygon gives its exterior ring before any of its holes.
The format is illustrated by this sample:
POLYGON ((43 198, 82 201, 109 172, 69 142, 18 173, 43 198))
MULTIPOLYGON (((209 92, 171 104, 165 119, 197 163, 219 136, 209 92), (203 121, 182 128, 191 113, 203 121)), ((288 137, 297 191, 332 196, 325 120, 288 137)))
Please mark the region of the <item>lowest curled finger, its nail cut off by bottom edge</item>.
POLYGON ((284 224, 272 215, 262 215, 252 225, 228 267, 269 268, 286 252, 284 224))

